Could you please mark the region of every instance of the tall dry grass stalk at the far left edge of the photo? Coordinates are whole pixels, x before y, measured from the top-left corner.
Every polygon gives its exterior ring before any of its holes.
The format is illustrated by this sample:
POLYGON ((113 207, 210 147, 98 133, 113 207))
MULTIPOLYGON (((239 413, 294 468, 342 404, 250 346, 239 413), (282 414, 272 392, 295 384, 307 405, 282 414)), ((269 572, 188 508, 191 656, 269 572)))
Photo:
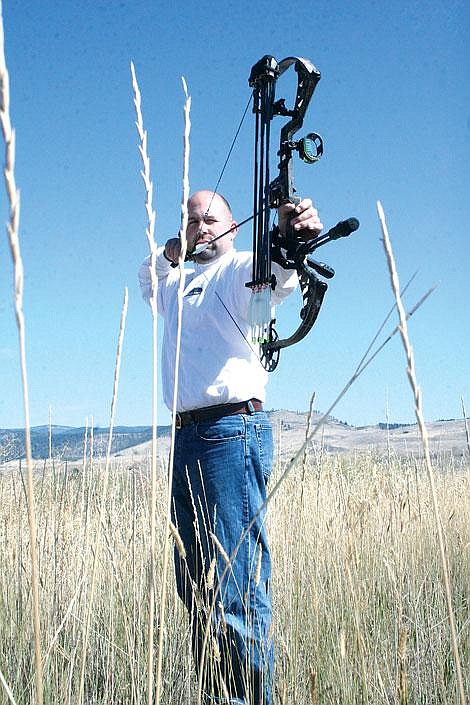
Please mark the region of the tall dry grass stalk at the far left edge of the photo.
POLYGON ((33 465, 31 453, 31 424, 29 417, 29 392, 26 367, 26 335, 23 314, 23 260, 21 258, 19 223, 20 194, 15 180, 15 132, 10 119, 10 81, 5 59, 5 43, 3 31, 3 12, 0 1, 0 123, 5 142, 5 186, 10 204, 10 218, 7 225, 8 241, 13 259, 14 270, 14 303, 16 325, 18 329, 21 380, 23 387, 23 407, 25 419, 25 450, 27 465, 27 504, 31 552, 31 592, 32 619, 34 638, 35 684, 37 705, 43 703, 43 671, 41 655, 41 625, 39 616, 39 563, 37 554, 37 525, 33 490, 33 465))

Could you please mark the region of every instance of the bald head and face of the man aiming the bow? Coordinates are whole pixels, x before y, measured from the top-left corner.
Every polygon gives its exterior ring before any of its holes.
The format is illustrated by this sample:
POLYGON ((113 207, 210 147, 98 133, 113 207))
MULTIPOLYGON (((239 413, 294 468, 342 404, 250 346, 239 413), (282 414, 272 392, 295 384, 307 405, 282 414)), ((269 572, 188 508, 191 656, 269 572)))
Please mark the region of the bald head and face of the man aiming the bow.
POLYGON ((234 226, 232 232, 227 233, 209 244, 206 249, 194 257, 196 262, 203 264, 217 259, 233 246, 233 238, 237 233, 236 223, 224 201, 212 191, 197 191, 188 201, 188 228, 186 239, 189 250, 196 245, 210 242, 217 235, 226 232, 234 226))

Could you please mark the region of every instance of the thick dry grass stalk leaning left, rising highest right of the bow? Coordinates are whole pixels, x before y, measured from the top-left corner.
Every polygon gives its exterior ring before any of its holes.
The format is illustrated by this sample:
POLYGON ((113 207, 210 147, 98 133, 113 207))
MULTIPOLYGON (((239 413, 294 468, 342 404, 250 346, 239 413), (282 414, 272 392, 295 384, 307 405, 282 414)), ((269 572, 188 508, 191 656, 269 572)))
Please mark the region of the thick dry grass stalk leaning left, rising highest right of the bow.
POLYGON ((397 272, 397 268, 396 268, 396 264, 395 264, 395 258, 393 256, 392 246, 391 246, 390 238, 388 235, 387 223, 385 221, 385 214, 384 214, 382 204, 380 203, 380 201, 377 202, 377 212, 379 215, 380 226, 382 228, 383 245, 384 245, 384 250, 385 250, 386 257, 387 257, 387 264, 388 264, 388 268, 389 268, 389 272, 390 272, 390 280, 391 280, 392 290, 393 290, 393 293, 395 296, 395 301, 397 303, 398 315, 399 315, 399 319, 400 319, 399 330, 400 330, 401 340, 403 343, 403 349, 405 350, 405 354, 406 354, 406 362, 407 362, 406 372, 408 375, 408 381, 410 383, 411 390, 413 392, 413 398, 414 398, 414 404, 415 404, 415 416, 416 416, 416 420, 418 422, 418 428, 419 428, 419 432, 421 435, 424 457, 425 457, 425 461, 426 461, 426 470, 428 473, 429 484, 431 487, 431 495, 432 495, 433 509, 434 509, 434 515, 435 515, 435 519, 436 519, 436 529, 437 529, 438 543, 439 543, 439 552, 440 552, 441 563, 442 563, 442 575, 443 575, 443 579, 444 579, 444 588, 445 588, 445 595, 446 595, 446 600, 447 600, 447 611, 448 611, 448 618, 449 618, 451 644, 452 644, 452 651, 454 654, 457 689, 458 689, 461 705, 466 705, 467 701, 466 701, 464 686, 463 686, 463 676, 462 676, 462 667, 461 667, 461 663, 460 663, 460 654, 459 654, 459 647, 458 647, 458 640, 457 640, 457 630, 455 628, 454 608, 452 605, 452 592, 451 592, 451 587, 450 587, 449 565, 448 565, 448 561, 447 561, 447 554, 446 554, 445 543, 444 543, 444 534, 443 534, 443 530, 442 530, 442 518, 441 518, 441 514, 440 514, 440 510, 439 510, 439 505, 438 505, 438 501, 437 501, 437 494, 436 494, 436 487, 435 487, 435 483, 434 483, 434 472, 433 472, 432 464, 431 464, 431 455, 430 455, 430 451, 429 451, 428 433, 427 433, 427 429, 426 429, 426 424, 424 423, 423 408, 422 408, 422 401, 421 401, 421 390, 418 386, 418 382, 416 379, 414 353, 413 353, 413 348, 411 346, 410 338, 408 335, 408 325, 407 325, 407 320, 406 320, 407 319, 406 312, 403 307, 403 303, 402 303, 401 296, 400 296, 400 281, 398 278, 398 272, 397 272))

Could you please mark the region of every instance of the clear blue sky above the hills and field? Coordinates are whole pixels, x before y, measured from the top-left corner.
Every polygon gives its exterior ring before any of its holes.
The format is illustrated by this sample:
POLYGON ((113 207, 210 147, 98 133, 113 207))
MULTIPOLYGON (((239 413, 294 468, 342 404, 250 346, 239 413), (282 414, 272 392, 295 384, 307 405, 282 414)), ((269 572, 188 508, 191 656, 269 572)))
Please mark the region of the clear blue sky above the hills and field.
MULTIPOLYGON (((323 160, 295 165, 299 193, 325 226, 354 215, 360 230, 319 250, 336 270, 309 336, 283 352, 268 408, 326 409, 392 304, 375 211, 382 201, 401 280, 419 273, 410 322, 428 419, 470 407, 468 196, 470 9, 463 0, 280 4, 5 0, 4 25, 21 189, 24 309, 33 424, 109 420, 124 287, 129 312, 117 423, 148 424, 150 314, 136 272, 147 254, 144 193, 129 64, 136 66, 163 243, 179 226, 184 95, 192 95, 191 188, 215 185, 266 53, 309 58, 322 79, 305 119, 323 160)), ((293 77, 292 72, 292 77, 293 77)), ((280 82, 281 83, 281 82, 280 82)), ((288 90, 286 75, 286 90, 288 90)), ((280 90, 281 87, 280 87, 280 90)), ((280 95, 280 94, 279 94, 280 95)), ((252 116, 220 186, 249 215, 252 116)), ((8 219, 6 197, 0 208, 8 219)), ((247 226, 238 248, 250 247, 247 226)), ((292 299, 280 326, 297 326, 292 299)), ((390 330, 394 323, 390 323, 390 330)), ((0 239, 0 427, 23 425, 12 264, 0 239)), ((398 337, 335 415, 354 424, 412 421, 398 337)), ((160 422, 168 422, 160 403, 160 422)))

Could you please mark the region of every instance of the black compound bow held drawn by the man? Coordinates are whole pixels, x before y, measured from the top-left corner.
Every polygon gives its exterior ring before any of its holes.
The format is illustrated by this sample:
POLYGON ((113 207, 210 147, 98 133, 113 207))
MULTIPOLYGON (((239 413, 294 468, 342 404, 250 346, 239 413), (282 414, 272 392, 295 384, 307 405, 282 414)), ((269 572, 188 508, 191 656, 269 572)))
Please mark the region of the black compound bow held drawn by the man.
POLYGON ((261 362, 272 371, 279 361, 282 348, 302 340, 312 328, 320 311, 327 284, 324 278, 334 276, 334 270, 322 262, 307 259, 321 245, 344 237, 359 227, 356 218, 338 223, 334 228, 310 242, 304 242, 290 224, 286 232, 270 228, 269 211, 284 203, 298 204, 293 171, 293 153, 306 164, 315 164, 323 154, 323 141, 316 132, 309 132, 299 140, 293 140, 300 130, 313 92, 320 80, 320 72, 308 60, 288 57, 277 62, 273 56, 263 56, 251 69, 249 85, 253 88, 253 113, 255 114, 255 158, 253 190, 253 268, 252 280, 246 284, 252 290, 248 312, 252 330, 252 341, 259 345, 261 362), (286 107, 284 98, 275 100, 278 78, 294 66, 297 72, 297 93, 294 106, 286 107), (282 127, 279 143, 278 176, 270 180, 269 151, 271 122, 274 117, 288 117, 282 127), (301 323, 289 337, 279 339, 275 319, 271 314, 271 291, 276 287, 276 278, 271 272, 272 261, 284 269, 296 269, 303 298, 300 311, 301 323), (315 273, 316 272, 316 273, 315 273))

